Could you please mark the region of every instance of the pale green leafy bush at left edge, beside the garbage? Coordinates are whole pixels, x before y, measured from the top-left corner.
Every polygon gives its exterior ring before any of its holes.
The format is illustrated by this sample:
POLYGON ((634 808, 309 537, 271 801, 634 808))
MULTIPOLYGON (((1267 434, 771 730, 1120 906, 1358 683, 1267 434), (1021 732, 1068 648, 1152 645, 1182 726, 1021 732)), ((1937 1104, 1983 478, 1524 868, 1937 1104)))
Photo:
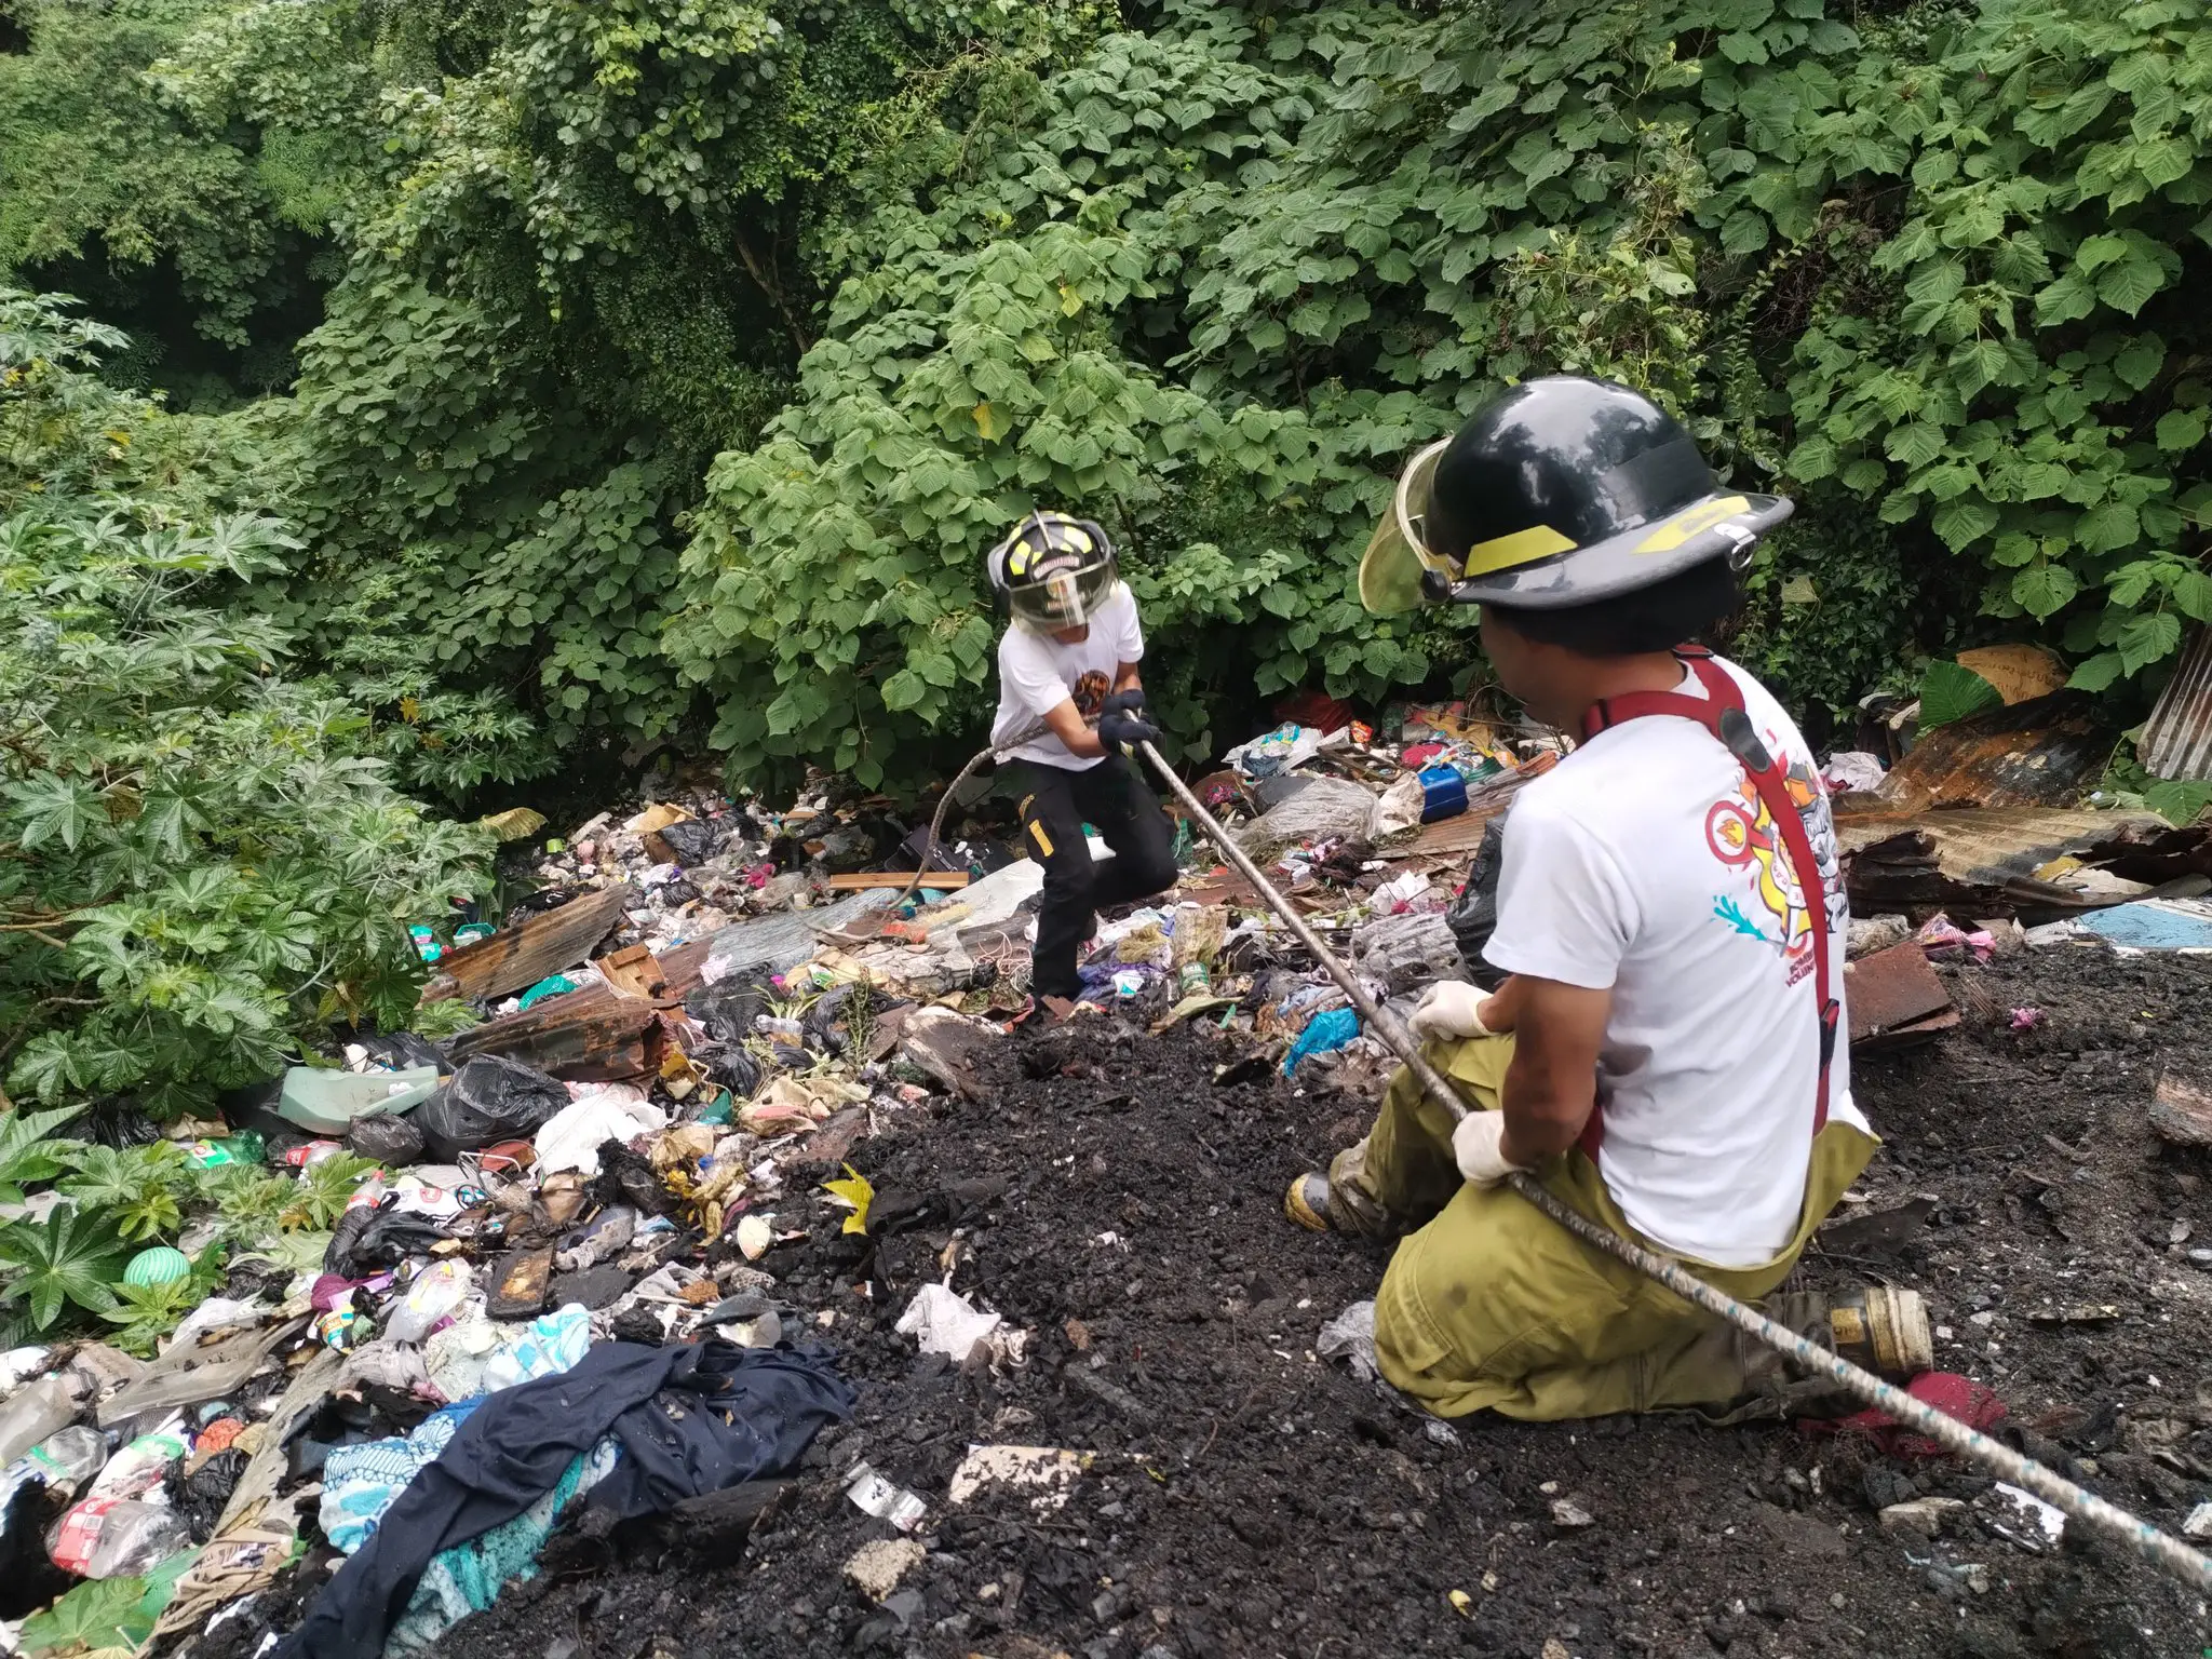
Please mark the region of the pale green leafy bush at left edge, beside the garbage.
POLYGON ((405 922, 482 889, 489 838, 279 672, 237 597, 292 538, 148 465, 188 440, 84 372, 106 345, 0 292, 0 1055, 18 1095, 175 1115, 336 1013, 403 1018, 405 922))

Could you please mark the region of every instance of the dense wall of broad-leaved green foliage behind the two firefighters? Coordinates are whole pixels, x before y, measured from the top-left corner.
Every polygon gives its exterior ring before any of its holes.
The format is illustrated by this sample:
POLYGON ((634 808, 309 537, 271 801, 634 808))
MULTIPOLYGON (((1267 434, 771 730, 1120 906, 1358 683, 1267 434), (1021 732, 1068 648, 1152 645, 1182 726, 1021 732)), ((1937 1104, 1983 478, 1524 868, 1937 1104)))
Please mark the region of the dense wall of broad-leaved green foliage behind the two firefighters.
MULTIPOLYGON (((2137 706, 2212 615, 2190 0, 150 7, 42 27, 161 51, 117 153, 343 263, 241 445, 305 544, 254 604, 407 785, 940 774, 1040 502, 1126 546, 1190 750, 1422 686, 1467 617, 1365 617, 1365 533, 1551 369, 1798 498, 1734 648, 1816 726, 1991 637, 2137 706)), ((97 166, 108 115, 27 108, 97 166)))

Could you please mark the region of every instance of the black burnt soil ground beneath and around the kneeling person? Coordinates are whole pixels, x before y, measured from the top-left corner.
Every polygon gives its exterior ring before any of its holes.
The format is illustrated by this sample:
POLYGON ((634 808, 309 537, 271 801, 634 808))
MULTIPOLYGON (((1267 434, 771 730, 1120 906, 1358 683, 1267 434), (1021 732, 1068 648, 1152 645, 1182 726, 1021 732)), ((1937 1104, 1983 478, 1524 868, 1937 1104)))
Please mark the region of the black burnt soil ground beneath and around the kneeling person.
MULTIPOLYGON (((1922 1290, 1951 1332, 1938 1363, 2002 1394, 2015 1442, 2179 1528, 2212 1498, 2212 1272, 2174 1234, 2185 1221, 2188 1245, 2212 1243, 2212 1168, 2161 1146, 2146 1104, 2161 1062, 2212 1055, 2212 971, 2066 949, 1947 975, 1964 1024, 1856 1066, 1887 1148, 1867 1203, 1838 1217, 1920 1197, 1927 1219, 1898 1243, 1845 1234, 1803 1274, 1922 1290), (2042 1024, 2015 1033, 2017 1006, 2042 1024), (2110 1323, 2048 1323, 2101 1305, 2110 1323)), ((936 1097, 860 1141, 874 1237, 785 1203, 812 1237, 765 1261, 792 1307, 834 1312, 818 1334, 863 1387, 856 1420, 750 1540, 560 1537, 540 1579, 440 1655, 2170 1659, 2212 1644, 2199 1597, 2079 1526, 2064 1548, 2000 1535, 2033 1528, 1958 1464, 1683 1418, 1429 1433, 1312 1354, 1385 1252, 1279 1210, 1294 1172, 1365 1128, 1371 1079, 1301 1091, 1248 1064, 1217 1082, 1241 1053, 1203 1029, 1024 1031, 987 1062, 982 1102, 936 1097), (1024 1365, 949 1369, 891 1332, 945 1263, 1029 1332, 1024 1365), (1060 1509, 1006 1486, 956 1509, 947 1482, 973 1442, 1095 1458, 1060 1509), (889 1606, 843 1575, 896 1537, 843 1495, 860 1458, 929 1502, 929 1555, 889 1606), (1885 1535, 1878 1504, 1911 1495, 1969 1506, 1938 1540, 1885 1535), (1562 1531, 1559 1498, 1595 1524, 1562 1531)))

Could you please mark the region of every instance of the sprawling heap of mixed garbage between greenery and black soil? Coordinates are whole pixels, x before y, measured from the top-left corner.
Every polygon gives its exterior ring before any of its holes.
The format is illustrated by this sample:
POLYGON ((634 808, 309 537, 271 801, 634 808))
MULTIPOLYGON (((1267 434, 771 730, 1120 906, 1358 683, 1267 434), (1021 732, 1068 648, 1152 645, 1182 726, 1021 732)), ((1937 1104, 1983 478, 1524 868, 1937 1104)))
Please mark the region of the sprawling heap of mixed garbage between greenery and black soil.
MULTIPOLYGON (((1566 739, 1464 703, 1279 714, 1199 799, 1378 1000, 1482 980, 1506 807, 1566 739)), ((2212 832, 2095 810, 2084 721, 2064 692, 1929 732, 1871 708, 1829 757, 1854 1044, 1958 1024, 1944 962, 2212 947, 2212 832)), ((71 1329, 66 1301, 117 1327, 0 1354, 0 1650, 146 1650, 307 1557, 338 1571, 299 1652, 427 1648, 573 1502, 666 1511, 794 1464, 852 1391, 838 1314, 779 1298, 774 1252, 865 1232, 854 1144, 978 1099, 982 1051, 1040 1013, 1042 869, 960 805, 947 845, 834 779, 783 812, 695 785, 562 834, 498 814, 529 891, 411 929, 420 1031, 338 1031, 219 1121, 0 1146, 0 1217, 51 1241, 11 1285, 31 1329, 71 1329)), ((1281 918, 1194 825, 1177 860, 1053 1013, 1208 1020, 1241 1064, 1374 1086, 1383 1046, 1281 918)), ((900 1329, 1020 1363, 1022 1332, 940 1301, 900 1329)), ((860 1475, 854 1502, 905 1502, 860 1475)))

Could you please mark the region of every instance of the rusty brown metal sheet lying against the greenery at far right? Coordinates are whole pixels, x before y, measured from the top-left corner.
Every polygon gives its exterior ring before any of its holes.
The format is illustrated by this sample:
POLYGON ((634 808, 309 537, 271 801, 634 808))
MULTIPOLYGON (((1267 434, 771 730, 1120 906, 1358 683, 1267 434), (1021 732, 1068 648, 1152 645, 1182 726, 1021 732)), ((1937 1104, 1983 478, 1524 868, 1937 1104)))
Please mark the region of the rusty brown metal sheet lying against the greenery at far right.
POLYGON ((2081 692, 1984 708, 1922 734, 1878 790, 1891 807, 2073 807, 2106 761, 2115 730, 2081 692))

